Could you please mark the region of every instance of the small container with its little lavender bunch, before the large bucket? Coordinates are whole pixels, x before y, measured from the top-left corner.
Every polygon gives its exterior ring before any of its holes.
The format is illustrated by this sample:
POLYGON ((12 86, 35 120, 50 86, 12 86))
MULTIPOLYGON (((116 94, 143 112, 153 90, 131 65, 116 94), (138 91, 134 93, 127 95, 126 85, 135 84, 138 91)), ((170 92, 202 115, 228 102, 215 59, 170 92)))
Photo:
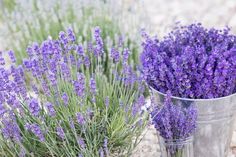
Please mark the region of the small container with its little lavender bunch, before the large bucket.
POLYGON ((168 92, 164 106, 154 105, 151 117, 160 135, 162 157, 193 156, 193 133, 197 122, 195 106, 182 108, 174 105, 168 92))

